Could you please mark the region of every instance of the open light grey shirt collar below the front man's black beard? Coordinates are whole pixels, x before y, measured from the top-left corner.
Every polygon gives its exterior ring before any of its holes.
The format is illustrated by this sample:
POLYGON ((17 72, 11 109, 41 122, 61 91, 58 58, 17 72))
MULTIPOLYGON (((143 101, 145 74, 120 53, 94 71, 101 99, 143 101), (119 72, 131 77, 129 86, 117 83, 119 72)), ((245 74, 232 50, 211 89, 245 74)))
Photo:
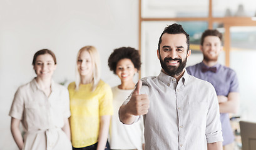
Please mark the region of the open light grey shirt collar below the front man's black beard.
MULTIPOLYGON (((177 82, 175 78, 163 73, 163 71, 161 71, 161 73, 158 75, 158 78, 160 79, 160 81, 162 81, 167 86, 170 86, 170 83, 177 82)), ((185 86, 187 81, 188 81, 188 73, 187 73, 187 70, 185 69, 185 72, 184 72, 182 78, 180 78, 180 81, 178 81, 178 83, 182 82, 182 84, 185 86)))

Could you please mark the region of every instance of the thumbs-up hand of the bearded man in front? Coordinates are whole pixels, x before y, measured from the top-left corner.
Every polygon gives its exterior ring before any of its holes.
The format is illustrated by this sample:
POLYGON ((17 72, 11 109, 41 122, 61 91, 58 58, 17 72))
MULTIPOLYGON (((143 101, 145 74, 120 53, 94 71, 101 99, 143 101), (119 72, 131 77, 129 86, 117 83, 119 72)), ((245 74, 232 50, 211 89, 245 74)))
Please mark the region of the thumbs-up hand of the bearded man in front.
POLYGON ((138 81, 136 89, 133 91, 130 101, 126 104, 127 113, 140 116, 148 113, 150 101, 147 94, 140 94, 142 82, 138 81))

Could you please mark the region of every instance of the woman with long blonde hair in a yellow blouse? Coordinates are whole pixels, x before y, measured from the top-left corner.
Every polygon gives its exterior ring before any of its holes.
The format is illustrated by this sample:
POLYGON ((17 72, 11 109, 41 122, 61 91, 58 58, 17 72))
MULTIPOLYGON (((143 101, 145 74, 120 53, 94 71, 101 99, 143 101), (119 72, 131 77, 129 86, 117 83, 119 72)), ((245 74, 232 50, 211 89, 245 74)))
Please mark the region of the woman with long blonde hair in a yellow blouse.
POLYGON ((76 59, 76 81, 69 84, 73 149, 109 149, 112 93, 100 79, 100 60, 93 46, 82 47, 76 59))

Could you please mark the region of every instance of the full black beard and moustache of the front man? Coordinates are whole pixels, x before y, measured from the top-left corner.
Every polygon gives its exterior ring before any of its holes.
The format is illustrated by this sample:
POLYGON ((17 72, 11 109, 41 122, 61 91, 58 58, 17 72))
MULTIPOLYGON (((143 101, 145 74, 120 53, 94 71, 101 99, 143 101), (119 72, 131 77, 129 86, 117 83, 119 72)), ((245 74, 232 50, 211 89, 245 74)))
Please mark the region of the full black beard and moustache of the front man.
POLYGON ((164 60, 162 60, 161 55, 159 54, 159 59, 160 59, 160 63, 161 63, 161 68, 163 68, 165 73, 168 74, 169 76, 179 76, 187 64, 187 57, 186 57, 185 61, 182 61, 182 59, 178 59, 178 58, 175 58, 175 59, 165 58, 164 60), (169 65, 167 65, 167 61, 179 61, 180 65, 178 67, 177 66, 169 66, 169 65))

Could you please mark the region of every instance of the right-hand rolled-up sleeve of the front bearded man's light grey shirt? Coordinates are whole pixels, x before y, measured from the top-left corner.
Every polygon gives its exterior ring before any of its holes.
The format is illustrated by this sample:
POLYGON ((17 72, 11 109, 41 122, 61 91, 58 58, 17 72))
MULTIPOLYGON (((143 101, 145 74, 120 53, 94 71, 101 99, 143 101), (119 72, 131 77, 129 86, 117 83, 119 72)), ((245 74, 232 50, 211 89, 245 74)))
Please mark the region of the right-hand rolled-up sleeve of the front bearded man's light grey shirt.
POLYGON ((218 141, 223 141, 222 138, 222 127, 220 123, 220 110, 218 106, 217 94, 213 86, 211 86, 211 91, 208 94, 208 114, 207 114, 207 124, 205 129, 205 136, 207 138, 207 143, 215 143, 218 141))

